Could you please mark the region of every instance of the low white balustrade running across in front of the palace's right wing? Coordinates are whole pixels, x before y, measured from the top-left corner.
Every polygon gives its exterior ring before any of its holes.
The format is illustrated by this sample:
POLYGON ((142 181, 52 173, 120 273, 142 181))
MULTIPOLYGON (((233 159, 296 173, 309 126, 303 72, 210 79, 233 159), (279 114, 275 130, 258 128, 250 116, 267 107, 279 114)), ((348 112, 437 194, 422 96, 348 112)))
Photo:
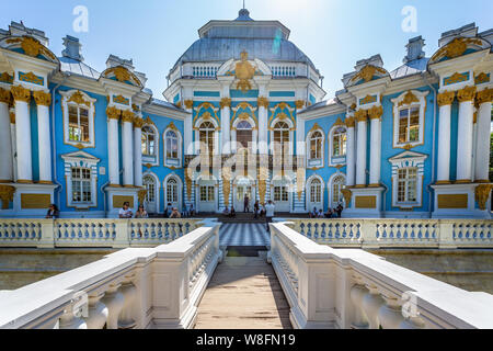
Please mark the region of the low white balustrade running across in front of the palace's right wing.
POLYGON ((493 220, 293 219, 289 225, 322 245, 353 248, 492 248, 493 220))

